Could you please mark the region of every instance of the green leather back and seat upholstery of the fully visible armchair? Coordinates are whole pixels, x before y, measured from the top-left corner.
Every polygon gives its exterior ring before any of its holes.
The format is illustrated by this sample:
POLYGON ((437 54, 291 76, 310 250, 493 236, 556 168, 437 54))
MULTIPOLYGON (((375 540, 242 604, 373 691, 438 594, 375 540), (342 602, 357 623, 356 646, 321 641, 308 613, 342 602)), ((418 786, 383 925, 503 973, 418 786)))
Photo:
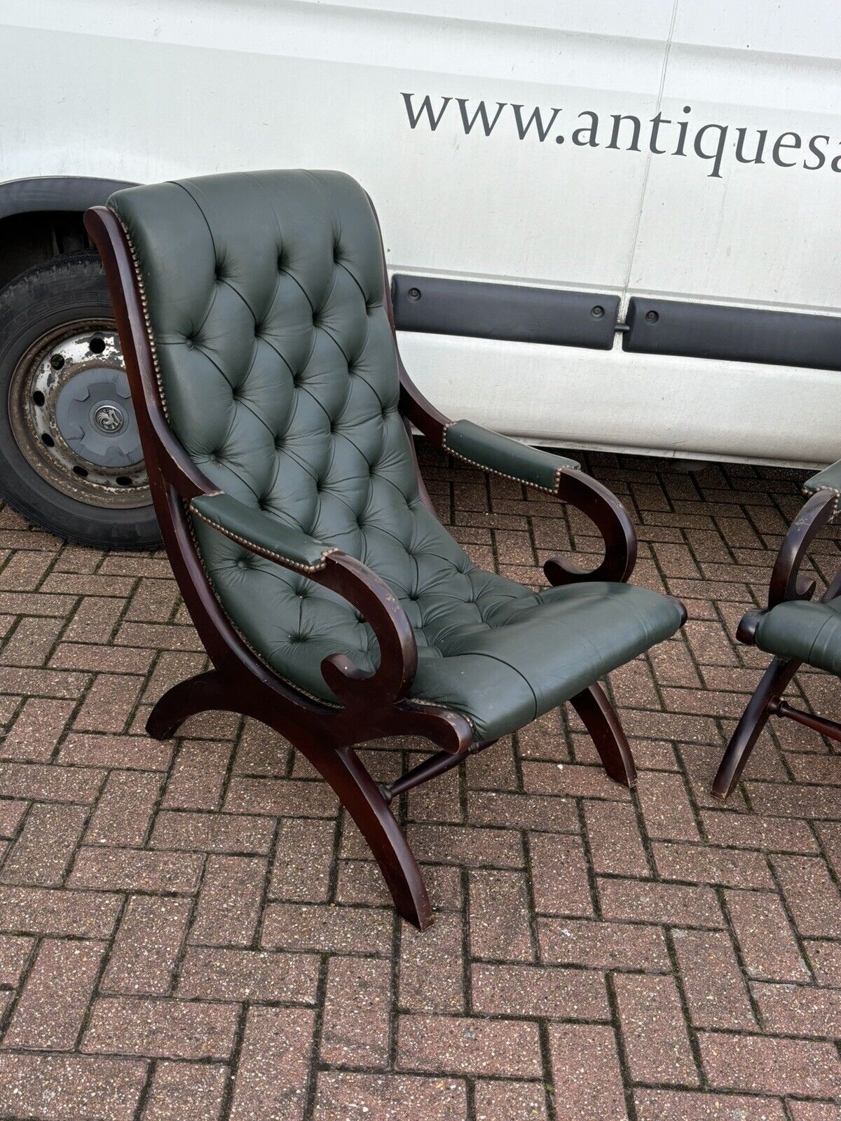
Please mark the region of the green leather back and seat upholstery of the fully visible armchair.
MULTIPOLYGON (((409 695, 465 713, 478 740, 677 630, 677 604, 644 589, 534 593, 483 572, 424 506, 398 413, 379 233, 354 180, 207 176, 133 187, 109 205, 132 244, 172 428, 227 495, 194 502, 203 563, 280 676, 334 702, 322 659, 344 654, 371 671, 376 639, 346 601, 231 534, 307 563, 338 548, 372 568, 414 628, 409 695)), ((515 450, 524 475, 547 478, 543 453, 515 450)))

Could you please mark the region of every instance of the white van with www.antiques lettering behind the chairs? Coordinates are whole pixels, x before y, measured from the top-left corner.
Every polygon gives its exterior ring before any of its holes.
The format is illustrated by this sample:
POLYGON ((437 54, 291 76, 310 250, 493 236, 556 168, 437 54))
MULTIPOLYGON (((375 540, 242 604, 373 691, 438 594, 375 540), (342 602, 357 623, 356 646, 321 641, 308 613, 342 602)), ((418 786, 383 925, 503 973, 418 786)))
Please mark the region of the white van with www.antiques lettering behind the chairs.
POLYGON ((156 528, 85 207, 340 168, 444 411, 685 458, 841 454, 838 0, 0 0, 0 492, 156 528))

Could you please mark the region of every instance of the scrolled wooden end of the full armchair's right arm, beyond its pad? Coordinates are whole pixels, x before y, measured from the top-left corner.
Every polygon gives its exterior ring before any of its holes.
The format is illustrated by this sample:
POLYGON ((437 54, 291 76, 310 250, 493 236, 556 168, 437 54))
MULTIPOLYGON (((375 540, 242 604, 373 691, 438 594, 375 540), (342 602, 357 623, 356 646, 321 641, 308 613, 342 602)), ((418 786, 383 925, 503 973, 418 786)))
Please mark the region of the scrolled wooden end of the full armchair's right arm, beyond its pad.
POLYGON ((630 578, 637 563, 637 535, 628 512, 607 487, 581 471, 558 472, 557 497, 569 502, 594 524, 604 541, 604 558, 595 568, 580 568, 563 557, 549 557, 543 571, 549 584, 581 581, 630 578))

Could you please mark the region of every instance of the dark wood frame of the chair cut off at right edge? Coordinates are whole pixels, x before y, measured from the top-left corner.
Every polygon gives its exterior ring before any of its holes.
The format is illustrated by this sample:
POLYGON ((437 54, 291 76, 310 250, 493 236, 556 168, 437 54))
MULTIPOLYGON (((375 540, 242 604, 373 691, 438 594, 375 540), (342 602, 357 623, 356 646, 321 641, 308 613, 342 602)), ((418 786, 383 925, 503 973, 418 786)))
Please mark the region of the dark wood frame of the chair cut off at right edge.
MULTIPOLYGON (((768 606, 749 611, 739 623, 736 637, 746 646, 752 646, 759 620, 771 608, 788 600, 811 600, 815 593, 814 580, 803 575, 801 567, 808 548, 835 513, 838 494, 820 490, 802 507, 792 522, 779 548, 768 585, 768 606)), ((821 596, 821 602, 833 600, 841 592, 841 571, 821 596)), ((793 658, 774 658, 756 687, 742 717, 736 725, 727 745, 718 773, 712 785, 717 798, 724 799, 739 781, 745 765, 750 758, 754 744, 768 722, 769 716, 793 720, 814 729, 831 740, 841 741, 841 724, 811 713, 794 708, 782 700, 792 678, 802 663, 793 658)))

